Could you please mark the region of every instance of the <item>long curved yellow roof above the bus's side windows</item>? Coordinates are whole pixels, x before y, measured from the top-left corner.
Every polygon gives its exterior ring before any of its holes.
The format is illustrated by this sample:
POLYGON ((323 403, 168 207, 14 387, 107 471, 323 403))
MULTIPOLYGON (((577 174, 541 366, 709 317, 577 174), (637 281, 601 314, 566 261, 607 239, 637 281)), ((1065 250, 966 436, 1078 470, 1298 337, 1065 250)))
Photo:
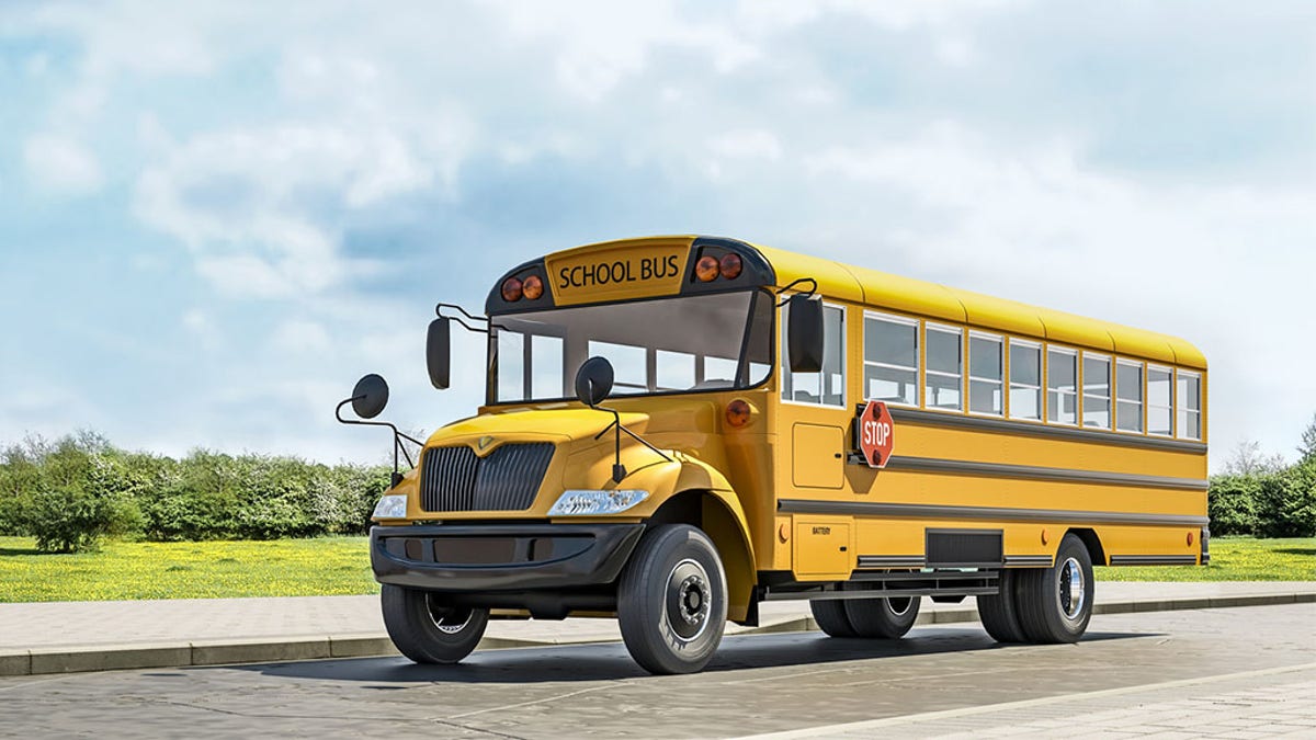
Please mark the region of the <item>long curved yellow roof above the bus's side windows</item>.
POLYGON ((753 246, 772 265, 778 286, 786 286, 800 278, 813 278, 819 283, 820 294, 841 300, 1144 359, 1202 370, 1207 367, 1205 356, 1178 337, 867 267, 853 267, 820 257, 770 246, 753 246))

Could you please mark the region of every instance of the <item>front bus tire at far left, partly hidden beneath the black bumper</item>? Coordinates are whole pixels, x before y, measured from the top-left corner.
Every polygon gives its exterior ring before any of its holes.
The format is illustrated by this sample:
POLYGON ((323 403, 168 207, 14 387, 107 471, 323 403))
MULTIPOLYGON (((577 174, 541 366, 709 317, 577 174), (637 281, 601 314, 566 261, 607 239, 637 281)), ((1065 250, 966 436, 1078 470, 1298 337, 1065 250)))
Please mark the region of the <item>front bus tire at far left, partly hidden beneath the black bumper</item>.
POLYGON ((453 608, 428 591, 388 583, 379 593, 384 628, 397 650, 420 664, 454 664, 471 654, 488 627, 490 610, 453 608))

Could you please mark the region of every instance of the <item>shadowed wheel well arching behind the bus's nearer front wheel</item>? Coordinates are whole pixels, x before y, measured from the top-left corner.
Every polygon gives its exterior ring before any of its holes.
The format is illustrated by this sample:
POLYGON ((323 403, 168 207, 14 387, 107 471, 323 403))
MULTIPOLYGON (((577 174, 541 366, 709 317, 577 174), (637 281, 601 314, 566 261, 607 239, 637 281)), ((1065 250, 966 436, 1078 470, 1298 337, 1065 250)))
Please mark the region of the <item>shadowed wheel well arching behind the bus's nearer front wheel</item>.
POLYGON ((708 491, 690 490, 672 495, 647 519, 649 527, 690 524, 699 527, 713 541, 726 570, 728 619, 745 623, 755 619, 754 556, 732 510, 708 491))

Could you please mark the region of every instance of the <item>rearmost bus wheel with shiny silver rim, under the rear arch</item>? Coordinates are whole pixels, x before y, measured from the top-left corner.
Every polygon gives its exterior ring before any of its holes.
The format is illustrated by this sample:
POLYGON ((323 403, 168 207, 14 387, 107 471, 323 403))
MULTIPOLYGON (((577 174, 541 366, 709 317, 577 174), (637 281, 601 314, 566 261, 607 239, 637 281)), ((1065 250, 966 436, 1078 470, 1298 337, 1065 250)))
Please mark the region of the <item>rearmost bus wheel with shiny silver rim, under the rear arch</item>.
POLYGON ((1032 643, 1076 643, 1092 619, 1092 557, 1076 535, 1065 535, 1051 568, 1020 570, 1015 611, 1032 643))

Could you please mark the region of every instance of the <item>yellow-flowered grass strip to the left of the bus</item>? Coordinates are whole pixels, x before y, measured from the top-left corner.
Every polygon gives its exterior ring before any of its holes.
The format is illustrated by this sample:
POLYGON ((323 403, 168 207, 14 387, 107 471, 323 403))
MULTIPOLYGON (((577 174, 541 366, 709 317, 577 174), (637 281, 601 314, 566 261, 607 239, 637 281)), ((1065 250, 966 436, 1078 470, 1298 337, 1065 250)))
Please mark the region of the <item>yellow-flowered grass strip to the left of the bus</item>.
POLYGON ((208 599, 375 594, 366 537, 121 542, 41 554, 0 537, 0 602, 208 599))

